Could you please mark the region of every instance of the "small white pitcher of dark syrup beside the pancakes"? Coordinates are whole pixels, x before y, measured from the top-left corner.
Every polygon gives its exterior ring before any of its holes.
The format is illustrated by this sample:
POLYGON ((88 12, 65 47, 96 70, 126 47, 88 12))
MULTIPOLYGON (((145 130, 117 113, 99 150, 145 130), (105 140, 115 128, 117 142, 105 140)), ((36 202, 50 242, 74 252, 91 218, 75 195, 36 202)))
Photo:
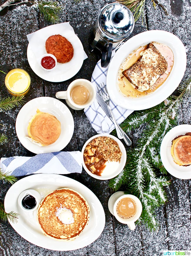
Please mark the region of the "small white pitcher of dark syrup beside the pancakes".
POLYGON ((38 191, 33 189, 24 190, 18 198, 19 206, 24 211, 35 211, 42 198, 38 191))

